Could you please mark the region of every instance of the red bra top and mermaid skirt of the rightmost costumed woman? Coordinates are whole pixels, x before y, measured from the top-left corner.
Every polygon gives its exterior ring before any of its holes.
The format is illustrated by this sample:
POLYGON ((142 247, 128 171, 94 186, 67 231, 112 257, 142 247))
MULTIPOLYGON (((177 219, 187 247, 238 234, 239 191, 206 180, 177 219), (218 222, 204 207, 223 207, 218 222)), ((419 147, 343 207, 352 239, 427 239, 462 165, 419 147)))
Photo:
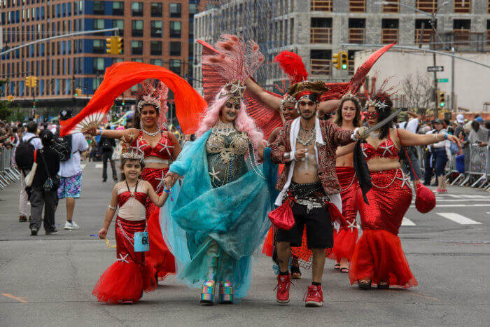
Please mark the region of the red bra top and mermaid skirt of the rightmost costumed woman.
MULTIPOLYGON (((388 136, 377 148, 363 144, 366 160, 375 157, 398 160, 398 149, 388 136)), ((408 288, 417 282, 403 253, 398 229, 412 202, 412 189, 402 169, 370 172, 369 205, 358 189, 356 197, 363 235, 358 239, 350 266, 351 284, 370 279, 372 284, 388 281, 390 286, 408 288)))

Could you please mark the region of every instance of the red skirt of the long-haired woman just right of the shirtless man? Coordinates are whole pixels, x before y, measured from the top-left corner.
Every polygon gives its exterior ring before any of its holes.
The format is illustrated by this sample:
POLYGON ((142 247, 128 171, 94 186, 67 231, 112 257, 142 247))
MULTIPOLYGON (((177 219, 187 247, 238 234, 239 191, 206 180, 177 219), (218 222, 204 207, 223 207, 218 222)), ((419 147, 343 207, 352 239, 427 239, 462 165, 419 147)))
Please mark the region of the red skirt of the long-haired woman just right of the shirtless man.
POLYGON ((341 225, 339 231, 333 232, 333 248, 328 258, 340 261, 342 258, 351 260, 356 246, 358 230, 356 228, 356 190, 357 179, 353 167, 335 167, 342 192, 342 215, 349 225, 341 225))

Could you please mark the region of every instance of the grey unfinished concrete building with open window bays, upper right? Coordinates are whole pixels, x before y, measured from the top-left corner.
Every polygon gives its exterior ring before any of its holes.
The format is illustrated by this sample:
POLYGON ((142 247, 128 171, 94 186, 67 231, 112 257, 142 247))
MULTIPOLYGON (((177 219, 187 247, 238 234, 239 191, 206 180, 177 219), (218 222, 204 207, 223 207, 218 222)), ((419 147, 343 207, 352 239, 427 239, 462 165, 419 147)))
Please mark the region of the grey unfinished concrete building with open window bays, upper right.
MULTIPOLYGON (((281 73, 270 62, 281 50, 301 55, 310 78, 324 81, 348 81, 354 54, 366 44, 490 50, 490 0, 223 0, 209 1, 205 9, 195 17, 196 39, 212 42, 221 33, 241 33, 257 41, 266 56, 257 76, 262 85, 279 83, 281 73), (436 11, 435 43, 429 45, 430 14, 436 11), (332 55, 339 51, 348 53, 348 69, 332 66, 332 55)), ((200 50, 195 45, 197 80, 200 50)), ((195 88, 200 88, 197 80, 195 88)))

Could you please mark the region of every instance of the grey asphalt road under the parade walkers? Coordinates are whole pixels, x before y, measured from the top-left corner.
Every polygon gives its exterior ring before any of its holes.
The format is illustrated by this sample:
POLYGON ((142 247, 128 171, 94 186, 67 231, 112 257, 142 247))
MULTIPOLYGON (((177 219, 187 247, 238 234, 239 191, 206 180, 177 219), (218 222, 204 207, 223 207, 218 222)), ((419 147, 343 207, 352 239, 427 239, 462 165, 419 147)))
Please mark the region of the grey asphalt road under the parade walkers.
MULTIPOLYGON (((102 225, 112 183, 102 183, 99 163, 83 172, 82 197, 74 221, 59 235, 29 235, 18 223, 19 184, 0 190, 0 326, 488 326, 490 193, 454 187, 437 196, 429 214, 410 208, 400 230, 402 246, 419 286, 407 290, 360 291, 328 261, 323 276, 325 305, 302 300, 311 272, 291 287, 291 302, 274 299, 272 262, 258 256, 248 296, 235 305, 201 307, 200 291, 174 277, 145 293, 136 305, 106 305, 91 295, 115 250, 92 237, 102 225)), ((112 225, 113 226, 113 225, 112 225)), ((113 227, 109 238, 113 242, 113 227)))

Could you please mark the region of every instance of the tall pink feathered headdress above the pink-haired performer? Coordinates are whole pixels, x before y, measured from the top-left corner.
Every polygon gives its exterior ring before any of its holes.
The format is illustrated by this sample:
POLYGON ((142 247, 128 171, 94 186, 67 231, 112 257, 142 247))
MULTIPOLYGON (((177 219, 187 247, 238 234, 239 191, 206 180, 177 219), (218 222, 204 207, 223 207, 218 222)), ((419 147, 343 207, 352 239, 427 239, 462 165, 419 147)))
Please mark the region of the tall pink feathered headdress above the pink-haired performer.
POLYGON ((219 97, 241 99, 246 78, 264 61, 257 43, 246 42, 241 36, 223 34, 214 44, 213 50, 214 52, 203 55, 202 64, 213 69, 217 74, 215 79, 221 81, 219 97))

